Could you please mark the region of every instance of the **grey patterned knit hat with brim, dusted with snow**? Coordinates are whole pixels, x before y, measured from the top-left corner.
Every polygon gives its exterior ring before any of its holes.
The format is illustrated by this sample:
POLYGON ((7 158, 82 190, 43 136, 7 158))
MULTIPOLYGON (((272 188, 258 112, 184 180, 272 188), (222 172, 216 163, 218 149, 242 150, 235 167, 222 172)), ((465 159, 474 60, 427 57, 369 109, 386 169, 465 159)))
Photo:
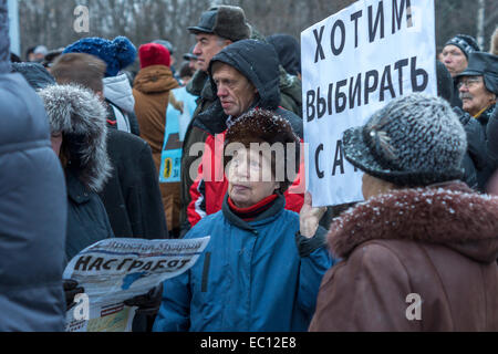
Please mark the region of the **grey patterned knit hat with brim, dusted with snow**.
POLYGON ((413 93, 390 102, 361 127, 344 132, 344 156, 397 186, 460 179, 467 136, 449 104, 413 93))

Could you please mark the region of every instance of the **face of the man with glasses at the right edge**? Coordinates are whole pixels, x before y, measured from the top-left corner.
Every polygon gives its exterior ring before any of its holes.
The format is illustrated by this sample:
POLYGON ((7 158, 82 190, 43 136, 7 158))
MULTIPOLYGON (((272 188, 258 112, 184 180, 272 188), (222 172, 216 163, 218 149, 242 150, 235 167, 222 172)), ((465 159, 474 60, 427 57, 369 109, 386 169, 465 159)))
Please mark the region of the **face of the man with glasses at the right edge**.
POLYGON ((458 82, 458 91, 464 103, 464 111, 473 116, 496 100, 496 95, 486 88, 483 76, 461 76, 458 82))

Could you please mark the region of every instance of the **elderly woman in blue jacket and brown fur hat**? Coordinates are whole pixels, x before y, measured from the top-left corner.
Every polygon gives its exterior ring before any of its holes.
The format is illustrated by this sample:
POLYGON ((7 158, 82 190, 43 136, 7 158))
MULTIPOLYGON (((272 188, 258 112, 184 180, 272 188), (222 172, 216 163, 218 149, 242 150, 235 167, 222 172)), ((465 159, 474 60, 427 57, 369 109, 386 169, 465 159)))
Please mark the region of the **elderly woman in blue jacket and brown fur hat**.
POLYGON ((164 282, 154 331, 307 331, 332 260, 318 223, 324 208, 312 208, 307 194, 299 216, 284 210, 299 152, 289 123, 271 112, 252 110, 231 124, 222 209, 186 235, 210 241, 190 270, 164 282))

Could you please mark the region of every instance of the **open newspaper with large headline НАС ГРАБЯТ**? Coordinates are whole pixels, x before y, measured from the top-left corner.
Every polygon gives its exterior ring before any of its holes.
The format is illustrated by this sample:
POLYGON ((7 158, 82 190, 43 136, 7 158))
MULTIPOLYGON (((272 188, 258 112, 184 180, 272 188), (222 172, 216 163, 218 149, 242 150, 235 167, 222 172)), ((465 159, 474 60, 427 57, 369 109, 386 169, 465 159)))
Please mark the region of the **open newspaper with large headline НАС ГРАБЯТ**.
POLYGON ((113 238, 85 248, 63 274, 85 290, 66 313, 66 332, 129 332, 136 308, 123 301, 188 270, 209 239, 113 238))

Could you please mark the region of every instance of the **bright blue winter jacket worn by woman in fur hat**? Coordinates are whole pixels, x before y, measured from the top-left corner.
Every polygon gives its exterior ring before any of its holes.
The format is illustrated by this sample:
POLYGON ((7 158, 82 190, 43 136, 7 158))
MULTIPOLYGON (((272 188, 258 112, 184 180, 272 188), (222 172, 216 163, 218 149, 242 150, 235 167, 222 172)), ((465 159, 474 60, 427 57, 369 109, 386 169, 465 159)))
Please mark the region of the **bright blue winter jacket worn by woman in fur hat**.
POLYGON ((164 282, 154 331, 307 331, 320 282, 332 266, 323 229, 299 235, 299 216, 280 196, 255 221, 222 210, 186 238, 211 239, 195 266, 164 282))

